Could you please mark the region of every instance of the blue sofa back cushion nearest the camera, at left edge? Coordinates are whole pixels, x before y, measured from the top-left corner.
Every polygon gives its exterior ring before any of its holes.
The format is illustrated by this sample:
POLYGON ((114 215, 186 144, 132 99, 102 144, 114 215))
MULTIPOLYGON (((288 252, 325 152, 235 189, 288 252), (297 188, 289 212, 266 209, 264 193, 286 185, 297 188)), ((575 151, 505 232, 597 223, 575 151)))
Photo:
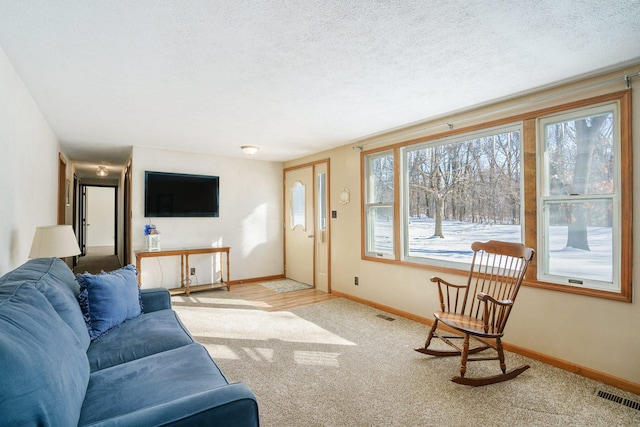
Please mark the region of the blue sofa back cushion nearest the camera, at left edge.
POLYGON ((0 286, 0 420, 76 425, 89 383, 83 346, 31 283, 0 286))

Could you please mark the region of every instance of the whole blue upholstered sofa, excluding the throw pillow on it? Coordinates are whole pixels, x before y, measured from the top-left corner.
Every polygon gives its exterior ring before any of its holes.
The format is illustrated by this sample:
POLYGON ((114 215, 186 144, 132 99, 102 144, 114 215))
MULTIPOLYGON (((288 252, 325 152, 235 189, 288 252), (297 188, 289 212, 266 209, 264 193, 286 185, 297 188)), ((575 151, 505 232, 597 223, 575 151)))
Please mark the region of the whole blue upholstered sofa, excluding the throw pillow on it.
POLYGON ((141 290, 142 313, 93 341, 79 294, 57 258, 0 278, 1 425, 259 425, 254 394, 227 381, 168 291, 141 290))

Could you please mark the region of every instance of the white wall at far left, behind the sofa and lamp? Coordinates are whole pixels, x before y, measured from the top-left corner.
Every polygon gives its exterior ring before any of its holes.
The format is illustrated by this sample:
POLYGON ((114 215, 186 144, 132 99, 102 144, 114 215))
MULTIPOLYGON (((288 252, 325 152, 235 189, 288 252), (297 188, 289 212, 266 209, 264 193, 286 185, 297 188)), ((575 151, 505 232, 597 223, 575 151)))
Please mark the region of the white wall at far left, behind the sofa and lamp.
POLYGON ((56 223, 59 149, 0 49, 0 274, 27 261, 37 226, 56 223))

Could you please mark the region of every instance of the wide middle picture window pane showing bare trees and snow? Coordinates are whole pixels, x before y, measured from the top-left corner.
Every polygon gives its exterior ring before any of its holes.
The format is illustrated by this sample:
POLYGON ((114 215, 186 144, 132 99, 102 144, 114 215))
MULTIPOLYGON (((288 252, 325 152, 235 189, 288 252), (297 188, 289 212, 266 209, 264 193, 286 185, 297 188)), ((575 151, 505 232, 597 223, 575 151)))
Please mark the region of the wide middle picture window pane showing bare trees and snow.
POLYGON ((471 262, 476 240, 522 241, 521 127, 405 147, 404 258, 471 262))

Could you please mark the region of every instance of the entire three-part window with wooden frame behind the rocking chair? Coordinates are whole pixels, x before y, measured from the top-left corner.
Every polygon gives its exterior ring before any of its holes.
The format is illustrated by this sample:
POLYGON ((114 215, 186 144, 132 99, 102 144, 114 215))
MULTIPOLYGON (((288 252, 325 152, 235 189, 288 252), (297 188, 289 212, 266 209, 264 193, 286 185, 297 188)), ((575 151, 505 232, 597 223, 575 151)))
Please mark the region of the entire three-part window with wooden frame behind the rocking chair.
POLYGON ((364 152, 364 258, 466 271, 473 241, 521 241, 527 285, 631 301, 630 98, 364 152))

